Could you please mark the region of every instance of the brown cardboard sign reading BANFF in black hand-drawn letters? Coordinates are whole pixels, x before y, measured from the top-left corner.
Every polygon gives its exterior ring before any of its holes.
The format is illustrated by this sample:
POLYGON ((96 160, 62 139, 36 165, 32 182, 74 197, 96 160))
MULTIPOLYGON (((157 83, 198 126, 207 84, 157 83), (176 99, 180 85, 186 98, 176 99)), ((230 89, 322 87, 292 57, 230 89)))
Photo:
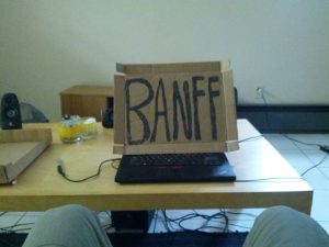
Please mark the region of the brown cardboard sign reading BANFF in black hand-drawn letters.
POLYGON ((229 64, 117 65, 114 153, 238 149, 229 64))

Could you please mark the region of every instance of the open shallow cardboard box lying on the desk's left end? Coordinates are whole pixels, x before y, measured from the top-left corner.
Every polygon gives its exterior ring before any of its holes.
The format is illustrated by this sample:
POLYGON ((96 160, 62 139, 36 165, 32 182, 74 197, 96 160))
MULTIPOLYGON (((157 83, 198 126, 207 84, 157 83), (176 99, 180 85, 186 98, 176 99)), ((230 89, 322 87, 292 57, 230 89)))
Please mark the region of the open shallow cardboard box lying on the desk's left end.
POLYGON ((50 144, 49 128, 0 131, 0 183, 12 182, 50 144))

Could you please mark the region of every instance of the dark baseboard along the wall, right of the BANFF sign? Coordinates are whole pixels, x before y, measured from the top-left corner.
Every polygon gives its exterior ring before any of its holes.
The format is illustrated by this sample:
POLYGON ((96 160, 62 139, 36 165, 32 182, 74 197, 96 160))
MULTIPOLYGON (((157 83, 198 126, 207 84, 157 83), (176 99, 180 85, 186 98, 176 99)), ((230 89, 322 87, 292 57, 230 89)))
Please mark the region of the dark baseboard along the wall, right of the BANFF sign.
POLYGON ((238 105, 261 133, 329 133, 329 105, 238 105))

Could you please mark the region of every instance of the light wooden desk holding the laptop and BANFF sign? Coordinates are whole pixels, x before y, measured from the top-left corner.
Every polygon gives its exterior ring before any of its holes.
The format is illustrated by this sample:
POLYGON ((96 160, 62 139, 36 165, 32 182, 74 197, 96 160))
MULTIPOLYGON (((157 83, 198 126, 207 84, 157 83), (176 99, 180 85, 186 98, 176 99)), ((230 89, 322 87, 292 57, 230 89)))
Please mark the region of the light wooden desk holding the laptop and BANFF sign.
MULTIPOLYGON (((100 177, 72 183, 57 173, 56 159, 64 160, 71 178, 94 173, 102 160, 118 157, 112 154, 113 130, 100 126, 95 139, 64 145, 58 139, 55 124, 27 124, 24 127, 35 126, 53 127, 53 145, 19 177, 18 184, 0 187, 0 211, 44 211, 67 203, 80 203, 101 211, 284 204, 310 213, 311 188, 263 137, 242 142, 240 150, 227 154, 237 175, 236 182, 122 186, 114 182, 116 170, 105 165, 100 177)), ((240 139, 259 135, 246 120, 238 121, 238 130, 240 139)))

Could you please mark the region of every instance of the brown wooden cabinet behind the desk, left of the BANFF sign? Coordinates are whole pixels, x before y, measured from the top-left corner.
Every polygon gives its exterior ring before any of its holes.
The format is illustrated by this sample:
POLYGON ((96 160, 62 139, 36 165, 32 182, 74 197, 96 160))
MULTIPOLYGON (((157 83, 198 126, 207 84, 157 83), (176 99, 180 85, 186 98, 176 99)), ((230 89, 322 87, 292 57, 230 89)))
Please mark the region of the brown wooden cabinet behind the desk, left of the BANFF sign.
POLYGON ((112 86, 78 85, 60 92, 61 115, 94 116, 102 121, 102 110, 113 108, 112 86))

